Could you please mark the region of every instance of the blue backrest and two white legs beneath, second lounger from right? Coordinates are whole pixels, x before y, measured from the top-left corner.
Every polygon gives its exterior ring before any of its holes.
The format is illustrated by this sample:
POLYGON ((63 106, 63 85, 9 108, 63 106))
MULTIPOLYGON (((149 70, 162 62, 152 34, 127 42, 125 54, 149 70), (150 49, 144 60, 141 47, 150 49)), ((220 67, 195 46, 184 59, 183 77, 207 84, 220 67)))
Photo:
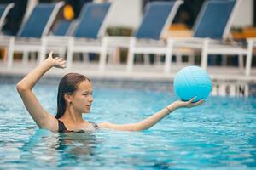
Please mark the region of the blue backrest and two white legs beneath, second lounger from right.
POLYGON ((166 35, 166 31, 171 26, 177 9, 182 3, 182 1, 157 2, 148 5, 143 23, 137 30, 136 38, 131 39, 130 42, 127 71, 132 70, 135 54, 166 54, 164 71, 168 70, 170 63, 168 50, 163 48, 165 42, 161 40, 166 35), (149 42, 142 42, 143 40, 149 40, 149 42))

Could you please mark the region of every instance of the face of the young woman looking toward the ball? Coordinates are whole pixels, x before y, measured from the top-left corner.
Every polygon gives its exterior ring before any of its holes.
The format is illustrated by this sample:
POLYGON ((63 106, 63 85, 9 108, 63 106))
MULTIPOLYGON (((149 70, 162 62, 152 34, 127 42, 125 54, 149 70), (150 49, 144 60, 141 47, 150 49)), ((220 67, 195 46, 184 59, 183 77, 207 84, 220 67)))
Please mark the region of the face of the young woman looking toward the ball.
POLYGON ((72 97, 73 108, 81 113, 88 113, 93 102, 92 85, 89 81, 80 82, 72 97))

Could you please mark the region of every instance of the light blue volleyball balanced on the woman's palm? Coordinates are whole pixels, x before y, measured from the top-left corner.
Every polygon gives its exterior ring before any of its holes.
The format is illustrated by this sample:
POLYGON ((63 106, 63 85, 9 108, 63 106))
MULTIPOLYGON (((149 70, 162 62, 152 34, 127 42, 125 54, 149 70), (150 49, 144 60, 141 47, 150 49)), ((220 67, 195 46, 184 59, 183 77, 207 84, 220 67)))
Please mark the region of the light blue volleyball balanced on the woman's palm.
POLYGON ((198 66, 187 66, 177 72, 173 82, 174 93, 183 101, 196 96, 195 101, 207 99, 212 90, 212 80, 207 71, 198 66))

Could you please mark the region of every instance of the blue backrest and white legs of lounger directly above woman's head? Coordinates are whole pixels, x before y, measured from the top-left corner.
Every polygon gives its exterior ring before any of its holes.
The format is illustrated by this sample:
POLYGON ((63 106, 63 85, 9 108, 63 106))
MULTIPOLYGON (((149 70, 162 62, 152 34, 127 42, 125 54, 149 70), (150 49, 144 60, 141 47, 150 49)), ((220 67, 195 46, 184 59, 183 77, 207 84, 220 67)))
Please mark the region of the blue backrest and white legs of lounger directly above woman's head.
POLYGON ((110 7, 110 3, 84 4, 78 24, 68 41, 67 68, 71 68, 73 64, 74 53, 99 53, 100 60, 106 55, 102 36, 106 30, 110 7))

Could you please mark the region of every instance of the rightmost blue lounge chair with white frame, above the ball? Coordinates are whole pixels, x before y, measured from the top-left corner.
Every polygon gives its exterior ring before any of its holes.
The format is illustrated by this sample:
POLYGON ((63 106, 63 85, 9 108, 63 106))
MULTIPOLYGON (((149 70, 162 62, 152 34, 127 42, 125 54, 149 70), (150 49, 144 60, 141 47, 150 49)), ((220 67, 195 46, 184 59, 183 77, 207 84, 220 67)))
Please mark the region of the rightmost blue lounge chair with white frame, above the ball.
MULTIPOLYGON (((207 69, 207 57, 210 54, 238 54, 247 55, 247 48, 236 44, 225 43, 230 33, 230 26, 241 0, 210 0, 206 1, 197 20, 195 21, 194 34, 191 38, 168 39, 170 54, 172 49, 192 48, 201 50, 201 67, 207 69)), ((240 62, 240 66, 241 66, 240 62)))

